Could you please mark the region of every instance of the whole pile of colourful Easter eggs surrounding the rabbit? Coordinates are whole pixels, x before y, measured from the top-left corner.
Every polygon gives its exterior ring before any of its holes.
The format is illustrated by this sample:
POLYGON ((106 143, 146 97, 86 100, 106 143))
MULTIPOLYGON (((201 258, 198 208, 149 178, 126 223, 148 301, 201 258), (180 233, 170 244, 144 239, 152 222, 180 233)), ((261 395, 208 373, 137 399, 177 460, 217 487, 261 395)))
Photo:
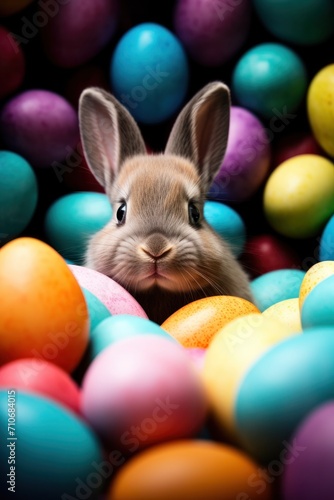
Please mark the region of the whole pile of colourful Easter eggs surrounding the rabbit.
POLYGON ((1 498, 334 498, 333 19, 331 0, 1 2, 1 498), (204 216, 253 300, 157 324, 84 266, 113 214, 78 99, 112 92, 150 154, 214 80, 231 113, 204 216))

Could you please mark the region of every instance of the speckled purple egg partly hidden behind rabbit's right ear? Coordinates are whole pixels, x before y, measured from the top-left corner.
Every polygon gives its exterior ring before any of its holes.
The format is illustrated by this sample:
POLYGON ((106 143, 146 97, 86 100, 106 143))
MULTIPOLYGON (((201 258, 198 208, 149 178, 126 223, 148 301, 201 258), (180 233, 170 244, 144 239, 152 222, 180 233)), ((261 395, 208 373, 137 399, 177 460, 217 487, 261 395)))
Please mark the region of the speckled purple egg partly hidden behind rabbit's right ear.
POLYGON ((247 109, 232 106, 226 153, 210 196, 227 202, 250 198, 267 176, 270 157, 269 139, 260 120, 247 109))

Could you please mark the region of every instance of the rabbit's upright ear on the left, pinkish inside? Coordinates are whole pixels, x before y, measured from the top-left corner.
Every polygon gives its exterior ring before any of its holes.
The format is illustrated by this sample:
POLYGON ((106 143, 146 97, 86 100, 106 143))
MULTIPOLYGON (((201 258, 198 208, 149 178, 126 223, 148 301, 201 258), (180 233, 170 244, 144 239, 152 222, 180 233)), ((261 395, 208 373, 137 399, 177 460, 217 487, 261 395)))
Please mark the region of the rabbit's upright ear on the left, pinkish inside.
POLYGON ((108 193, 124 160, 146 153, 140 130, 115 97, 96 87, 80 96, 79 126, 87 163, 108 193))

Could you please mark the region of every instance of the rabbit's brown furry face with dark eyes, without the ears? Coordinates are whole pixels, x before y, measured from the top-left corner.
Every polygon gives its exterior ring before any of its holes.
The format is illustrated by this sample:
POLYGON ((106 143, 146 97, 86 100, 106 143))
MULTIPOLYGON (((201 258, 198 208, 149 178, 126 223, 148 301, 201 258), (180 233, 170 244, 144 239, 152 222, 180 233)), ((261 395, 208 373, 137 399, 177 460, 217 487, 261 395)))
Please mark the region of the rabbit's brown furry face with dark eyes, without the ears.
POLYGON ((200 266, 208 250, 203 193, 190 162, 172 155, 127 160, 111 200, 113 218, 93 238, 88 265, 135 292, 207 284, 200 266))

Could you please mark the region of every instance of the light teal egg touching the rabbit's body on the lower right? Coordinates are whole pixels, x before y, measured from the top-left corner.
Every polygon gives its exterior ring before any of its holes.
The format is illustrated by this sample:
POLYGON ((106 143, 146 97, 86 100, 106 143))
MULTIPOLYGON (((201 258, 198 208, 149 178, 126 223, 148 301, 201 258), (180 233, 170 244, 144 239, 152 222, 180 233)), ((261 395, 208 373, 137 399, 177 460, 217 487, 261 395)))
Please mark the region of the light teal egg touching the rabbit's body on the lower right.
POLYGON ((304 276, 299 269, 278 269, 255 278, 250 286, 256 306, 264 311, 282 300, 298 298, 304 276))

